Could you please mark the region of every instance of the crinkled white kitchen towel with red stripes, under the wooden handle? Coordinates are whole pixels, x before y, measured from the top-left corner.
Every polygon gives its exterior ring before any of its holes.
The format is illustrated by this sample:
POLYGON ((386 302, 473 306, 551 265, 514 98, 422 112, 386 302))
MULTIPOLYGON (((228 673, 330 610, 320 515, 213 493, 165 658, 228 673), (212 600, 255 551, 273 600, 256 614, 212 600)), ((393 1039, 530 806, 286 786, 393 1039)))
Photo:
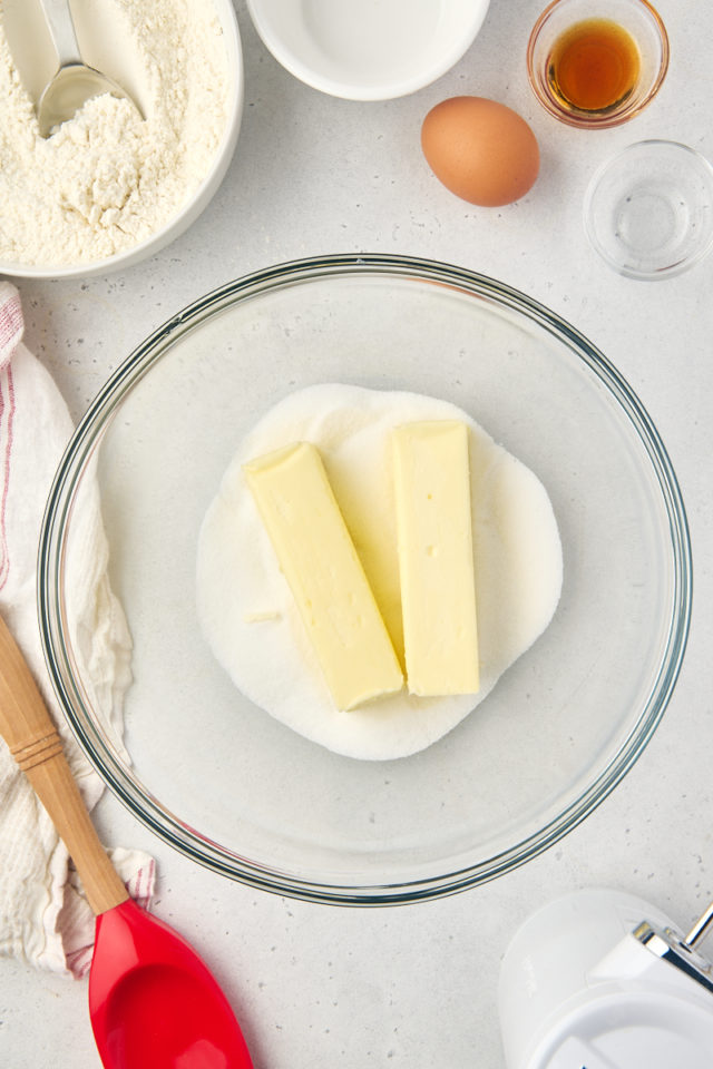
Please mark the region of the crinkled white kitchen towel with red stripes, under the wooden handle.
MULTIPOLYGON (((37 553, 45 506, 72 433, 67 406, 48 372, 22 343, 20 295, 0 282, 0 612, 25 654, 65 742, 69 765, 89 808, 102 784, 59 712, 45 665, 37 616, 37 553)), ((105 726, 120 745, 123 696, 130 681, 130 637, 107 576, 108 549, 98 490, 75 516, 82 529, 74 569, 72 639, 105 726)), ((129 893, 147 905, 153 860, 114 851, 129 893)), ((25 775, 0 739, 0 954, 84 975, 91 961, 94 916, 64 843, 25 775)))

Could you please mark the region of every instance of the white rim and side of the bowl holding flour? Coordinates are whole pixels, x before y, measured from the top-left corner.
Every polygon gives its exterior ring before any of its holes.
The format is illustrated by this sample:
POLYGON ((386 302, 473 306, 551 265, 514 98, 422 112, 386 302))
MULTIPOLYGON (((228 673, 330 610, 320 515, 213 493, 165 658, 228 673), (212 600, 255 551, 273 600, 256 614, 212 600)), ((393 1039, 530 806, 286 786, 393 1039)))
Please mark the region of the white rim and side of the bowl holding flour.
POLYGON ((231 0, 213 0, 216 14, 223 28, 223 37, 227 51, 228 70, 232 76, 227 108, 227 122, 223 137, 213 159, 209 170, 194 193, 186 200, 180 212, 150 237, 139 242, 131 248, 126 248, 114 256, 102 259, 82 262, 79 264, 18 264, 12 261, 0 259, 0 274, 20 278, 77 278, 88 275, 105 275, 109 272, 126 269, 148 256, 153 256, 160 248, 170 244, 175 238, 194 223, 221 185, 233 158, 237 135, 243 116, 243 52, 241 47, 240 29, 235 10, 231 0))

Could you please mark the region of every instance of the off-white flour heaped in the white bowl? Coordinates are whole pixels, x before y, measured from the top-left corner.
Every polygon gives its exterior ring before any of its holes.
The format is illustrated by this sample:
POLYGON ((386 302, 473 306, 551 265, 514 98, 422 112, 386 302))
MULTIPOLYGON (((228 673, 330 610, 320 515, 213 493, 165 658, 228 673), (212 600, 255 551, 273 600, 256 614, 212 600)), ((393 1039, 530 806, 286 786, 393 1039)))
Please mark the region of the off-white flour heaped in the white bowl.
POLYGON ((108 24, 120 30, 146 118, 126 100, 104 95, 48 139, 39 135, 35 100, 10 50, 4 7, 0 4, 0 258, 77 264, 133 247, 167 224, 195 193, 225 129, 229 77, 213 3, 95 3, 99 19, 105 9, 108 24))

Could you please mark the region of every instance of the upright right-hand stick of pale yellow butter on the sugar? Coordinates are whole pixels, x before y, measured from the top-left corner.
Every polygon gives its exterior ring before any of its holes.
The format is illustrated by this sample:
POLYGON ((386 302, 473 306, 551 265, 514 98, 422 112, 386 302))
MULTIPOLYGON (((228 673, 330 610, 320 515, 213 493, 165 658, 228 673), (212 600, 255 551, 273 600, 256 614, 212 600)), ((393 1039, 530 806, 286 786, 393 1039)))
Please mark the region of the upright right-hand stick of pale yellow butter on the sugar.
POLYGON ((393 430, 399 572, 411 694, 479 688, 468 428, 393 430))

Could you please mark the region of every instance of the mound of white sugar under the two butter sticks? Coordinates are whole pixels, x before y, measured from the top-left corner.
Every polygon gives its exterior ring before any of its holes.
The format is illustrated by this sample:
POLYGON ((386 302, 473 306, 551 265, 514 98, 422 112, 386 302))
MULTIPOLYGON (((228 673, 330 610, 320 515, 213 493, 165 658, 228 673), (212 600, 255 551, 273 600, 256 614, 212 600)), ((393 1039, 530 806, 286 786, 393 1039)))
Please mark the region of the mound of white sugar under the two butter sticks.
POLYGON ((338 754, 387 761, 430 746, 482 702, 549 624, 561 567, 543 484, 466 412, 419 394, 330 383, 285 398, 241 442, 201 530, 197 607, 215 657, 246 697, 338 754), (242 465, 295 441, 320 449, 401 655, 390 432, 419 420, 462 420, 470 428, 480 690, 475 698, 419 698, 404 689, 335 710, 242 465))

